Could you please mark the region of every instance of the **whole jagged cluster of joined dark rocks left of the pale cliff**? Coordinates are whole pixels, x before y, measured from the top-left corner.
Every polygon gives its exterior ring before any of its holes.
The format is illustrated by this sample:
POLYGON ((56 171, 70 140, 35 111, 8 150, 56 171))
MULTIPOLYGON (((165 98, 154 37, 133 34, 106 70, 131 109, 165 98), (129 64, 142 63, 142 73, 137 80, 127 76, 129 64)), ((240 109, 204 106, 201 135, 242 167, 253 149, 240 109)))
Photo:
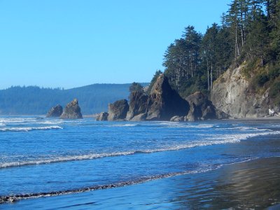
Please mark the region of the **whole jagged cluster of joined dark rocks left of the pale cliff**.
MULTIPOLYGON (((102 118, 100 113, 97 120, 102 118)), ((228 118, 202 94, 195 92, 187 99, 169 85, 162 73, 156 80, 150 94, 134 91, 130 94, 130 105, 123 99, 109 104, 108 120, 171 120, 174 122, 228 118)))

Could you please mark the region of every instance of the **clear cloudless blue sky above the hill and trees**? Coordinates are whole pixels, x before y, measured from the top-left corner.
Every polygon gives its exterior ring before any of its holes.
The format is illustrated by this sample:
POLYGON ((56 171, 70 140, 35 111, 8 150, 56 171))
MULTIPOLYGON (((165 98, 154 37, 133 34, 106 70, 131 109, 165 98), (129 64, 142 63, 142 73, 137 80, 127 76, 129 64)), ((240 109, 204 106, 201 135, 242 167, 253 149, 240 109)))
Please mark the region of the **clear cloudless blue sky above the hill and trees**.
POLYGON ((185 27, 230 0, 0 0, 0 89, 149 82, 185 27))

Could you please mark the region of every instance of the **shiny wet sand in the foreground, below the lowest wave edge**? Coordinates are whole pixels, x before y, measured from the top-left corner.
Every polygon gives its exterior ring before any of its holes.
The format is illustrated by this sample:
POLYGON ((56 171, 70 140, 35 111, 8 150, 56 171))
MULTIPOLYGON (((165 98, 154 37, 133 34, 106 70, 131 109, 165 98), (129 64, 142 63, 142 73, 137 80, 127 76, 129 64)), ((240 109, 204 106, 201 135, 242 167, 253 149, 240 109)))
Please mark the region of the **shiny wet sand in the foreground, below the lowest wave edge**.
POLYGON ((1 209, 278 209, 280 158, 131 186, 2 204, 1 209))

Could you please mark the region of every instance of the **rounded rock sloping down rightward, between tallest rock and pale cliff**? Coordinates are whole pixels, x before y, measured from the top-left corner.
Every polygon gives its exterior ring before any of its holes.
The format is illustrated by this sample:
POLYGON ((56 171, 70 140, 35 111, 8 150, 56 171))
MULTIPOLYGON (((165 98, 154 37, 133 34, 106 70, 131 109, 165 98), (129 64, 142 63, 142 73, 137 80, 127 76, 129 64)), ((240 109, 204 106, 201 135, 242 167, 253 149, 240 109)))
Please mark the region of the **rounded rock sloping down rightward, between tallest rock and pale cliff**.
POLYGON ((228 115, 216 109, 202 92, 190 94, 186 100, 190 104, 190 111, 186 116, 188 121, 228 118, 228 115))

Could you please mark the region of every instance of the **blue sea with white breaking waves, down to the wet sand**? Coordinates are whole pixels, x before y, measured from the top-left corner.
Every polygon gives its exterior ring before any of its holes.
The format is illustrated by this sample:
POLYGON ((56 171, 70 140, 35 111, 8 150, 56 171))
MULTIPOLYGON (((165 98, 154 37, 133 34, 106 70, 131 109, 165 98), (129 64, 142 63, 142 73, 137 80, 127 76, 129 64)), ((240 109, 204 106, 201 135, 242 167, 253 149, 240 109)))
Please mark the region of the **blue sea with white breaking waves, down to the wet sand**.
POLYGON ((269 120, 174 123, 1 117, 0 207, 27 198, 121 190, 279 157, 279 136, 280 122, 269 120))

